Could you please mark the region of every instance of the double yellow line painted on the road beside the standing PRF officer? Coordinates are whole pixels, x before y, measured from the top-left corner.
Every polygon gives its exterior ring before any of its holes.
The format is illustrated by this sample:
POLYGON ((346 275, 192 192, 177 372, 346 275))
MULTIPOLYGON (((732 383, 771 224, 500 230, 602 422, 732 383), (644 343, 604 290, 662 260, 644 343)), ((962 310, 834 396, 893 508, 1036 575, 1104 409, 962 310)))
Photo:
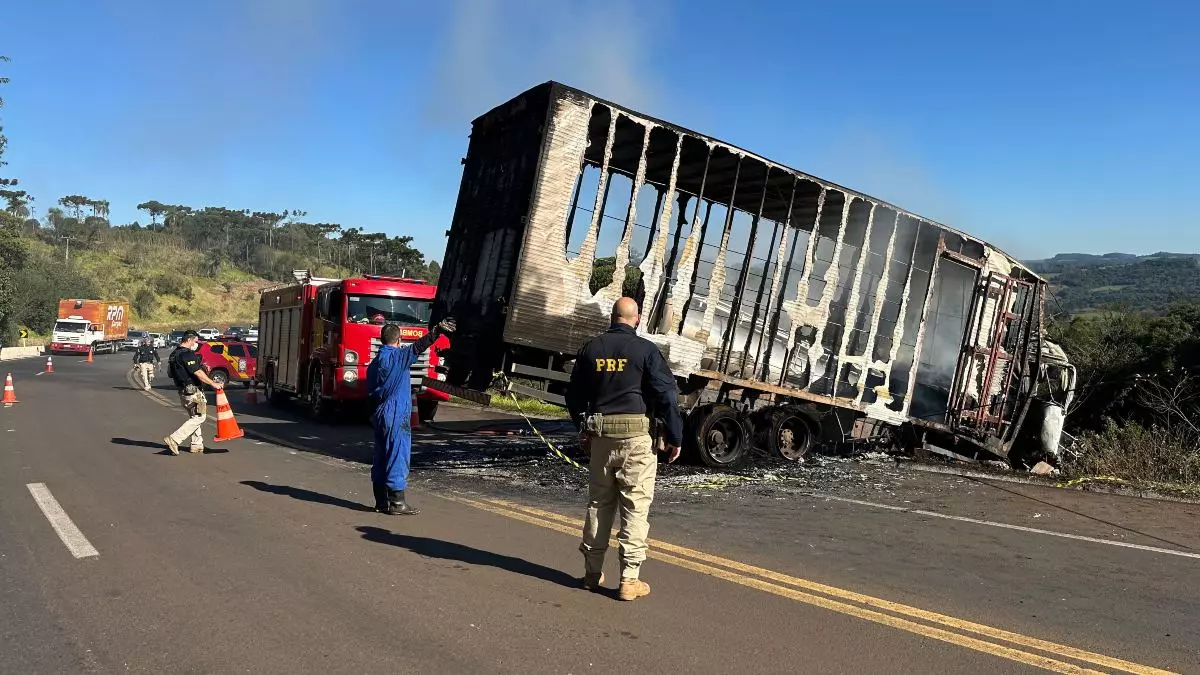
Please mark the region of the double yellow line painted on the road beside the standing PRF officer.
MULTIPOLYGON (((468 498, 461 495, 439 495, 448 500, 482 509, 504 518, 520 520, 564 534, 580 536, 583 522, 558 513, 528 507, 504 500, 468 498)), ((666 542, 650 543, 650 557, 691 569, 709 577, 755 589, 775 596, 798 601, 830 611, 846 614, 905 631, 925 638, 941 640, 983 653, 998 656, 1018 663, 1043 668, 1052 673, 1133 673, 1158 675, 1171 673, 1120 658, 1094 653, 1067 645, 1060 645, 1020 633, 994 628, 944 614, 908 607, 890 601, 856 593, 845 589, 818 584, 808 579, 781 574, 762 567, 746 565, 703 551, 688 549, 666 542), (1073 663, 1075 662, 1075 663, 1073 663), (1100 667, 1108 670, 1094 670, 1100 667)))

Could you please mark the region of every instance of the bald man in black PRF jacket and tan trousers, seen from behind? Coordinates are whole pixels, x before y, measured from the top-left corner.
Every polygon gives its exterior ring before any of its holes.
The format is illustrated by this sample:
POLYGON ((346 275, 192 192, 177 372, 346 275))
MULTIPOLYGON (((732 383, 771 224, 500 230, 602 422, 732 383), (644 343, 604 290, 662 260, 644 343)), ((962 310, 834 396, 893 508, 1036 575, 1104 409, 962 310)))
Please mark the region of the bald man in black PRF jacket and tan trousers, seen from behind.
POLYGON ((612 328, 580 350, 566 393, 566 408, 580 429, 580 443, 592 454, 588 512, 580 544, 583 587, 595 591, 604 584, 605 551, 619 512, 618 597, 623 601, 650 593, 640 575, 658 474, 652 420, 664 422, 667 461, 678 459, 683 442, 674 376, 658 346, 637 335, 640 322, 636 300, 617 300, 612 328))

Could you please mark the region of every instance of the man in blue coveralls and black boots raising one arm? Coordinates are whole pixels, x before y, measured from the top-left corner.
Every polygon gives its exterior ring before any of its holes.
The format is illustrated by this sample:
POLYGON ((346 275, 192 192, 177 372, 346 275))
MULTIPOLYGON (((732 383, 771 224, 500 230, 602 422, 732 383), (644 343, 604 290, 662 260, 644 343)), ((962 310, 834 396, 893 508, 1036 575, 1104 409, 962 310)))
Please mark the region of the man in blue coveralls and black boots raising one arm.
POLYGON ((413 452, 413 390, 409 377, 416 357, 421 356, 439 335, 454 333, 452 318, 433 327, 420 340, 400 347, 400 327, 383 327, 379 341, 383 347, 367 366, 367 395, 378 407, 371 416, 374 426, 374 460, 371 483, 374 486, 376 510, 388 515, 420 513, 404 500, 408 488, 408 460, 413 452))

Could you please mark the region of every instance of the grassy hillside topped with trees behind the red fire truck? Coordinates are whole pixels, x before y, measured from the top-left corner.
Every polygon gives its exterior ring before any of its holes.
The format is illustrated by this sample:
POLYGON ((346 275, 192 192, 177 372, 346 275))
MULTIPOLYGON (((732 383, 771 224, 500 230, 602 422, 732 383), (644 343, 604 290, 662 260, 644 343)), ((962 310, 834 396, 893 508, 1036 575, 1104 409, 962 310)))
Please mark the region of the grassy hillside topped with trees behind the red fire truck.
POLYGON ((0 211, 0 258, 7 259, 0 270, 0 339, 11 340, 22 327, 44 335, 61 298, 127 300, 136 328, 223 328, 256 322, 259 291, 292 281, 295 269, 428 281, 440 271, 408 237, 307 223, 298 213, 154 202, 143 204, 155 219, 150 226, 113 227, 106 202, 64 197, 60 203, 73 215, 55 208, 44 221, 22 221, 14 215, 23 209, 19 202, 0 211))

